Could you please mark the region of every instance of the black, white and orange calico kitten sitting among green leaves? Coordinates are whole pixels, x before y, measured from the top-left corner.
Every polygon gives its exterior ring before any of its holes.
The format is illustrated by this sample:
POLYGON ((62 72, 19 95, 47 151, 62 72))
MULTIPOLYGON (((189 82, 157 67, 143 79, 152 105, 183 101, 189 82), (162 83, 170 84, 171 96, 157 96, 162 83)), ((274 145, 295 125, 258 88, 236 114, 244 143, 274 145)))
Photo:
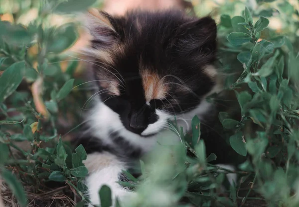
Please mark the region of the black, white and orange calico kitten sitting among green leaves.
POLYGON ((103 184, 115 197, 128 195, 117 183, 122 170, 152 148, 168 119, 188 124, 211 111, 205 97, 219 89, 217 29, 210 17, 175 10, 121 17, 90 10, 85 26, 92 40, 82 51, 98 90, 77 143, 88 152, 89 196, 99 205, 103 184))

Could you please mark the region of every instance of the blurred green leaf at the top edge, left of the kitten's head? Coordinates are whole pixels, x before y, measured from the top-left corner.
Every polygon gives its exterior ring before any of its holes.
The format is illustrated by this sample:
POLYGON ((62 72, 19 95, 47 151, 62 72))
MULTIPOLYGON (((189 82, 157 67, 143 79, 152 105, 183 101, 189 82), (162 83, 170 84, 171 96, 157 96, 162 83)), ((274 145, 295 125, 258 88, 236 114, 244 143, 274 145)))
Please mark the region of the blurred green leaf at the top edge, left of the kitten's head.
POLYGON ((84 11, 92 6, 97 0, 67 0, 60 3, 56 8, 56 12, 73 13, 84 11))

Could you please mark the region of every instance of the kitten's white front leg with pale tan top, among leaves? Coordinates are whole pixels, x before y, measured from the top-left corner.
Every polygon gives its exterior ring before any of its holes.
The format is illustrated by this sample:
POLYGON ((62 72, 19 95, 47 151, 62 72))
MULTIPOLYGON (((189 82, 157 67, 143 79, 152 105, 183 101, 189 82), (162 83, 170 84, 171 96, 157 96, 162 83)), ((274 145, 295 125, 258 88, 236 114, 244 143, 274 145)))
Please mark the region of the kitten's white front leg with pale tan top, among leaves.
MULTIPOLYGON (((113 205, 115 205, 115 198, 123 201, 132 194, 117 183, 120 180, 122 171, 126 169, 126 165, 115 155, 109 152, 92 153, 87 156, 84 163, 89 171, 86 184, 92 205, 100 205, 99 190, 103 185, 110 187, 113 205)), ((89 207, 92 207, 92 205, 89 205, 89 207)))

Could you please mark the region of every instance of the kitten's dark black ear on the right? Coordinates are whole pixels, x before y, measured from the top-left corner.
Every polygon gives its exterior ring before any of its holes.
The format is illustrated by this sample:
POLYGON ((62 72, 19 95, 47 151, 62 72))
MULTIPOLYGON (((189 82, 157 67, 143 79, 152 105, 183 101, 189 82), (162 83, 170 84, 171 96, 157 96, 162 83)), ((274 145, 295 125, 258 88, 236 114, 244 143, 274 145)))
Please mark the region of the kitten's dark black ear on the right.
POLYGON ((171 43, 185 53, 214 53, 216 50, 217 26, 211 17, 192 19, 180 25, 171 43))

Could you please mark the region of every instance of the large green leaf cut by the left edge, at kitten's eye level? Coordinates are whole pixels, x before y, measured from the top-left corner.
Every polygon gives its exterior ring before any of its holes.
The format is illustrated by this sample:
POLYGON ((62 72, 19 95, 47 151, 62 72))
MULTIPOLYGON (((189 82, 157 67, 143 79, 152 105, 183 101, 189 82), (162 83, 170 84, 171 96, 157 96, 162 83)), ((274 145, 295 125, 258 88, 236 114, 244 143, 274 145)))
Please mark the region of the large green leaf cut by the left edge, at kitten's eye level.
POLYGON ((0 102, 3 102, 22 81, 25 72, 25 62, 17 62, 10 67, 0 76, 0 102))

